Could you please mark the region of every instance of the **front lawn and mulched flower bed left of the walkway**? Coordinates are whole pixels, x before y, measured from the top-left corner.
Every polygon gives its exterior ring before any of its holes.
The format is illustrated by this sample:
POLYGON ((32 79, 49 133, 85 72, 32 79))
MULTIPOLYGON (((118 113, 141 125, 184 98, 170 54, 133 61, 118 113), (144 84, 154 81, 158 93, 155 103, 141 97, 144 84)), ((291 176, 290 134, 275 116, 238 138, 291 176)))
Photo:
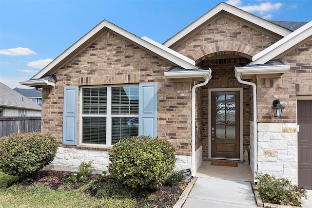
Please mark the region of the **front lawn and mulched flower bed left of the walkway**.
POLYGON ((0 208, 170 208, 182 193, 178 185, 134 192, 112 179, 98 179, 90 188, 89 181, 68 182, 68 176, 58 171, 22 183, 17 179, 0 172, 0 208))

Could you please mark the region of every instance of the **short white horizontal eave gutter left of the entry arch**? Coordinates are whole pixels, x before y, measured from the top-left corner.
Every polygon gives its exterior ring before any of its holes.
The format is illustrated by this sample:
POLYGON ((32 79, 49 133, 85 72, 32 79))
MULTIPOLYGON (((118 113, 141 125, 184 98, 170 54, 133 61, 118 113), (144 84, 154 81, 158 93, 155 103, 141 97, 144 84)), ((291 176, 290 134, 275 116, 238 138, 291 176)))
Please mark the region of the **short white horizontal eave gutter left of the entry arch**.
POLYGON ((176 78, 208 78, 211 79, 211 69, 209 70, 200 70, 200 71, 180 71, 180 72, 165 72, 167 78, 176 79, 176 78))

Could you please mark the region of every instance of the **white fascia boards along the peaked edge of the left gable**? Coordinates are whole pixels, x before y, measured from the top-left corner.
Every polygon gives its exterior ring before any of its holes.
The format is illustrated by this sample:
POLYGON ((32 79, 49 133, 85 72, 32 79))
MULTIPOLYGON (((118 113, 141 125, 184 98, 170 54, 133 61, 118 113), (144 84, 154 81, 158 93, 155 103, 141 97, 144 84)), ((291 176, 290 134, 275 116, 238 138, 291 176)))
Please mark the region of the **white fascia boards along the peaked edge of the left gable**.
MULTIPOLYGON (((61 61, 68 58, 73 52, 75 52, 80 46, 82 46, 84 43, 90 41, 90 38, 94 37, 98 34, 99 31, 103 30, 104 28, 108 28, 112 30, 114 33, 119 34, 120 36, 127 38, 128 40, 132 41, 133 43, 140 45, 141 47, 147 49, 148 51, 163 57, 167 59, 168 61, 175 63, 178 66, 181 66, 184 69, 194 69, 198 68, 194 64, 190 64, 189 62, 185 61, 184 59, 181 59, 180 57, 176 57, 173 54, 169 53, 168 51, 165 51, 156 45, 153 45, 152 43, 149 43, 146 40, 143 40, 132 33, 129 33, 128 31, 118 27, 117 25, 107 21, 103 20, 101 23, 99 23, 97 26, 95 26, 90 32, 85 34, 82 38, 80 38, 77 42, 75 42, 72 46, 70 46, 68 49, 66 49, 59 57, 55 58, 50 64, 48 64, 46 67, 44 67, 39 73, 37 73, 35 76, 32 77, 32 79, 38 79, 42 76, 45 76, 50 70, 52 70, 54 67, 56 67, 61 61)), ((97 37, 95 37, 97 38, 97 37)), ((87 45, 86 45, 87 47, 87 45)), ((72 57, 73 58, 73 57, 72 57)), ((68 60, 69 61, 69 60, 68 60)))

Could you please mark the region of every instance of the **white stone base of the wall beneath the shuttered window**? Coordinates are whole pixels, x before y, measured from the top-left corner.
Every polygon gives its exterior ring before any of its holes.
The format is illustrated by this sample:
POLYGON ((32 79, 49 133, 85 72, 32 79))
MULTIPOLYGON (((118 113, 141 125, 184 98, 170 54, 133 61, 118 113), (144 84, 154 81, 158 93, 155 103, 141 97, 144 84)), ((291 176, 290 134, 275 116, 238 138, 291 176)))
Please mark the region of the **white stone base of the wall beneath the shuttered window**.
MULTIPOLYGON (((196 169, 198 169, 202 161, 202 148, 199 148, 195 155, 197 164, 196 169)), ((192 156, 176 155, 176 159, 176 170, 192 168, 192 156)), ((110 163, 108 151, 59 147, 56 157, 46 169, 75 171, 78 170, 79 165, 83 161, 92 161, 96 173, 101 173, 103 170, 108 171, 107 166, 110 163)))

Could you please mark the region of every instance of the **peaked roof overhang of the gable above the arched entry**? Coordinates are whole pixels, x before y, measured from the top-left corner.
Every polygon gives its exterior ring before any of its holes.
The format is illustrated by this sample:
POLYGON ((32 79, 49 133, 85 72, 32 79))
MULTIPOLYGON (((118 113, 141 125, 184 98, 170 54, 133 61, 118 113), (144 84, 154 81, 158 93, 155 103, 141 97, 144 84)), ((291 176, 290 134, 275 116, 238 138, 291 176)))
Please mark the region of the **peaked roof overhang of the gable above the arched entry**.
POLYGON ((196 19, 189 26, 178 32, 175 36, 168 39, 166 42, 163 43, 163 45, 167 47, 175 47, 176 45, 179 45, 179 43, 191 37, 197 31, 210 24, 222 15, 239 21, 242 24, 245 24, 251 28, 257 29, 258 31, 266 33, 276 39, 285 37, 292 32, 289 29, 278 26, 265 19, 259 18, 230 4, 221 2, 209 12, 196 19))

